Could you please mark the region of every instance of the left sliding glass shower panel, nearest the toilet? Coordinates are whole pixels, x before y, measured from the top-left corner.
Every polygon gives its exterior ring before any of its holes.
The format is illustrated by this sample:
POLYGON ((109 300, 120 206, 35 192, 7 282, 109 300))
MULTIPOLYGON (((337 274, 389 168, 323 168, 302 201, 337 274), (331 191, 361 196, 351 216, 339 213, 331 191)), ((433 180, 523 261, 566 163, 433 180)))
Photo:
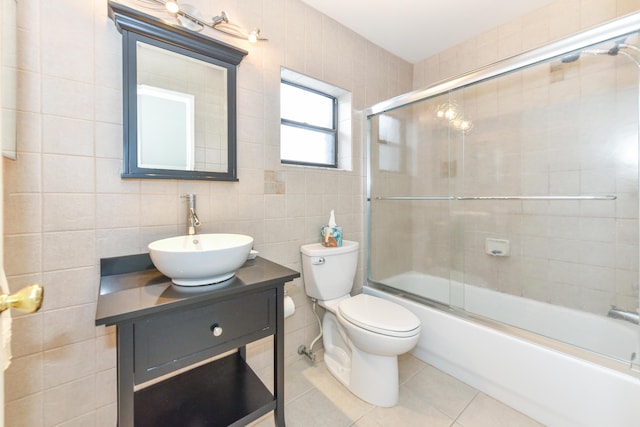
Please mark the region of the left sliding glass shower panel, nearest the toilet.
MULTIPOLYGON (((369 279, 451 304, 452 110, 448 95, 372 116, 369 279)), ((457 298, 458 304, 462 301, 457 298)))

